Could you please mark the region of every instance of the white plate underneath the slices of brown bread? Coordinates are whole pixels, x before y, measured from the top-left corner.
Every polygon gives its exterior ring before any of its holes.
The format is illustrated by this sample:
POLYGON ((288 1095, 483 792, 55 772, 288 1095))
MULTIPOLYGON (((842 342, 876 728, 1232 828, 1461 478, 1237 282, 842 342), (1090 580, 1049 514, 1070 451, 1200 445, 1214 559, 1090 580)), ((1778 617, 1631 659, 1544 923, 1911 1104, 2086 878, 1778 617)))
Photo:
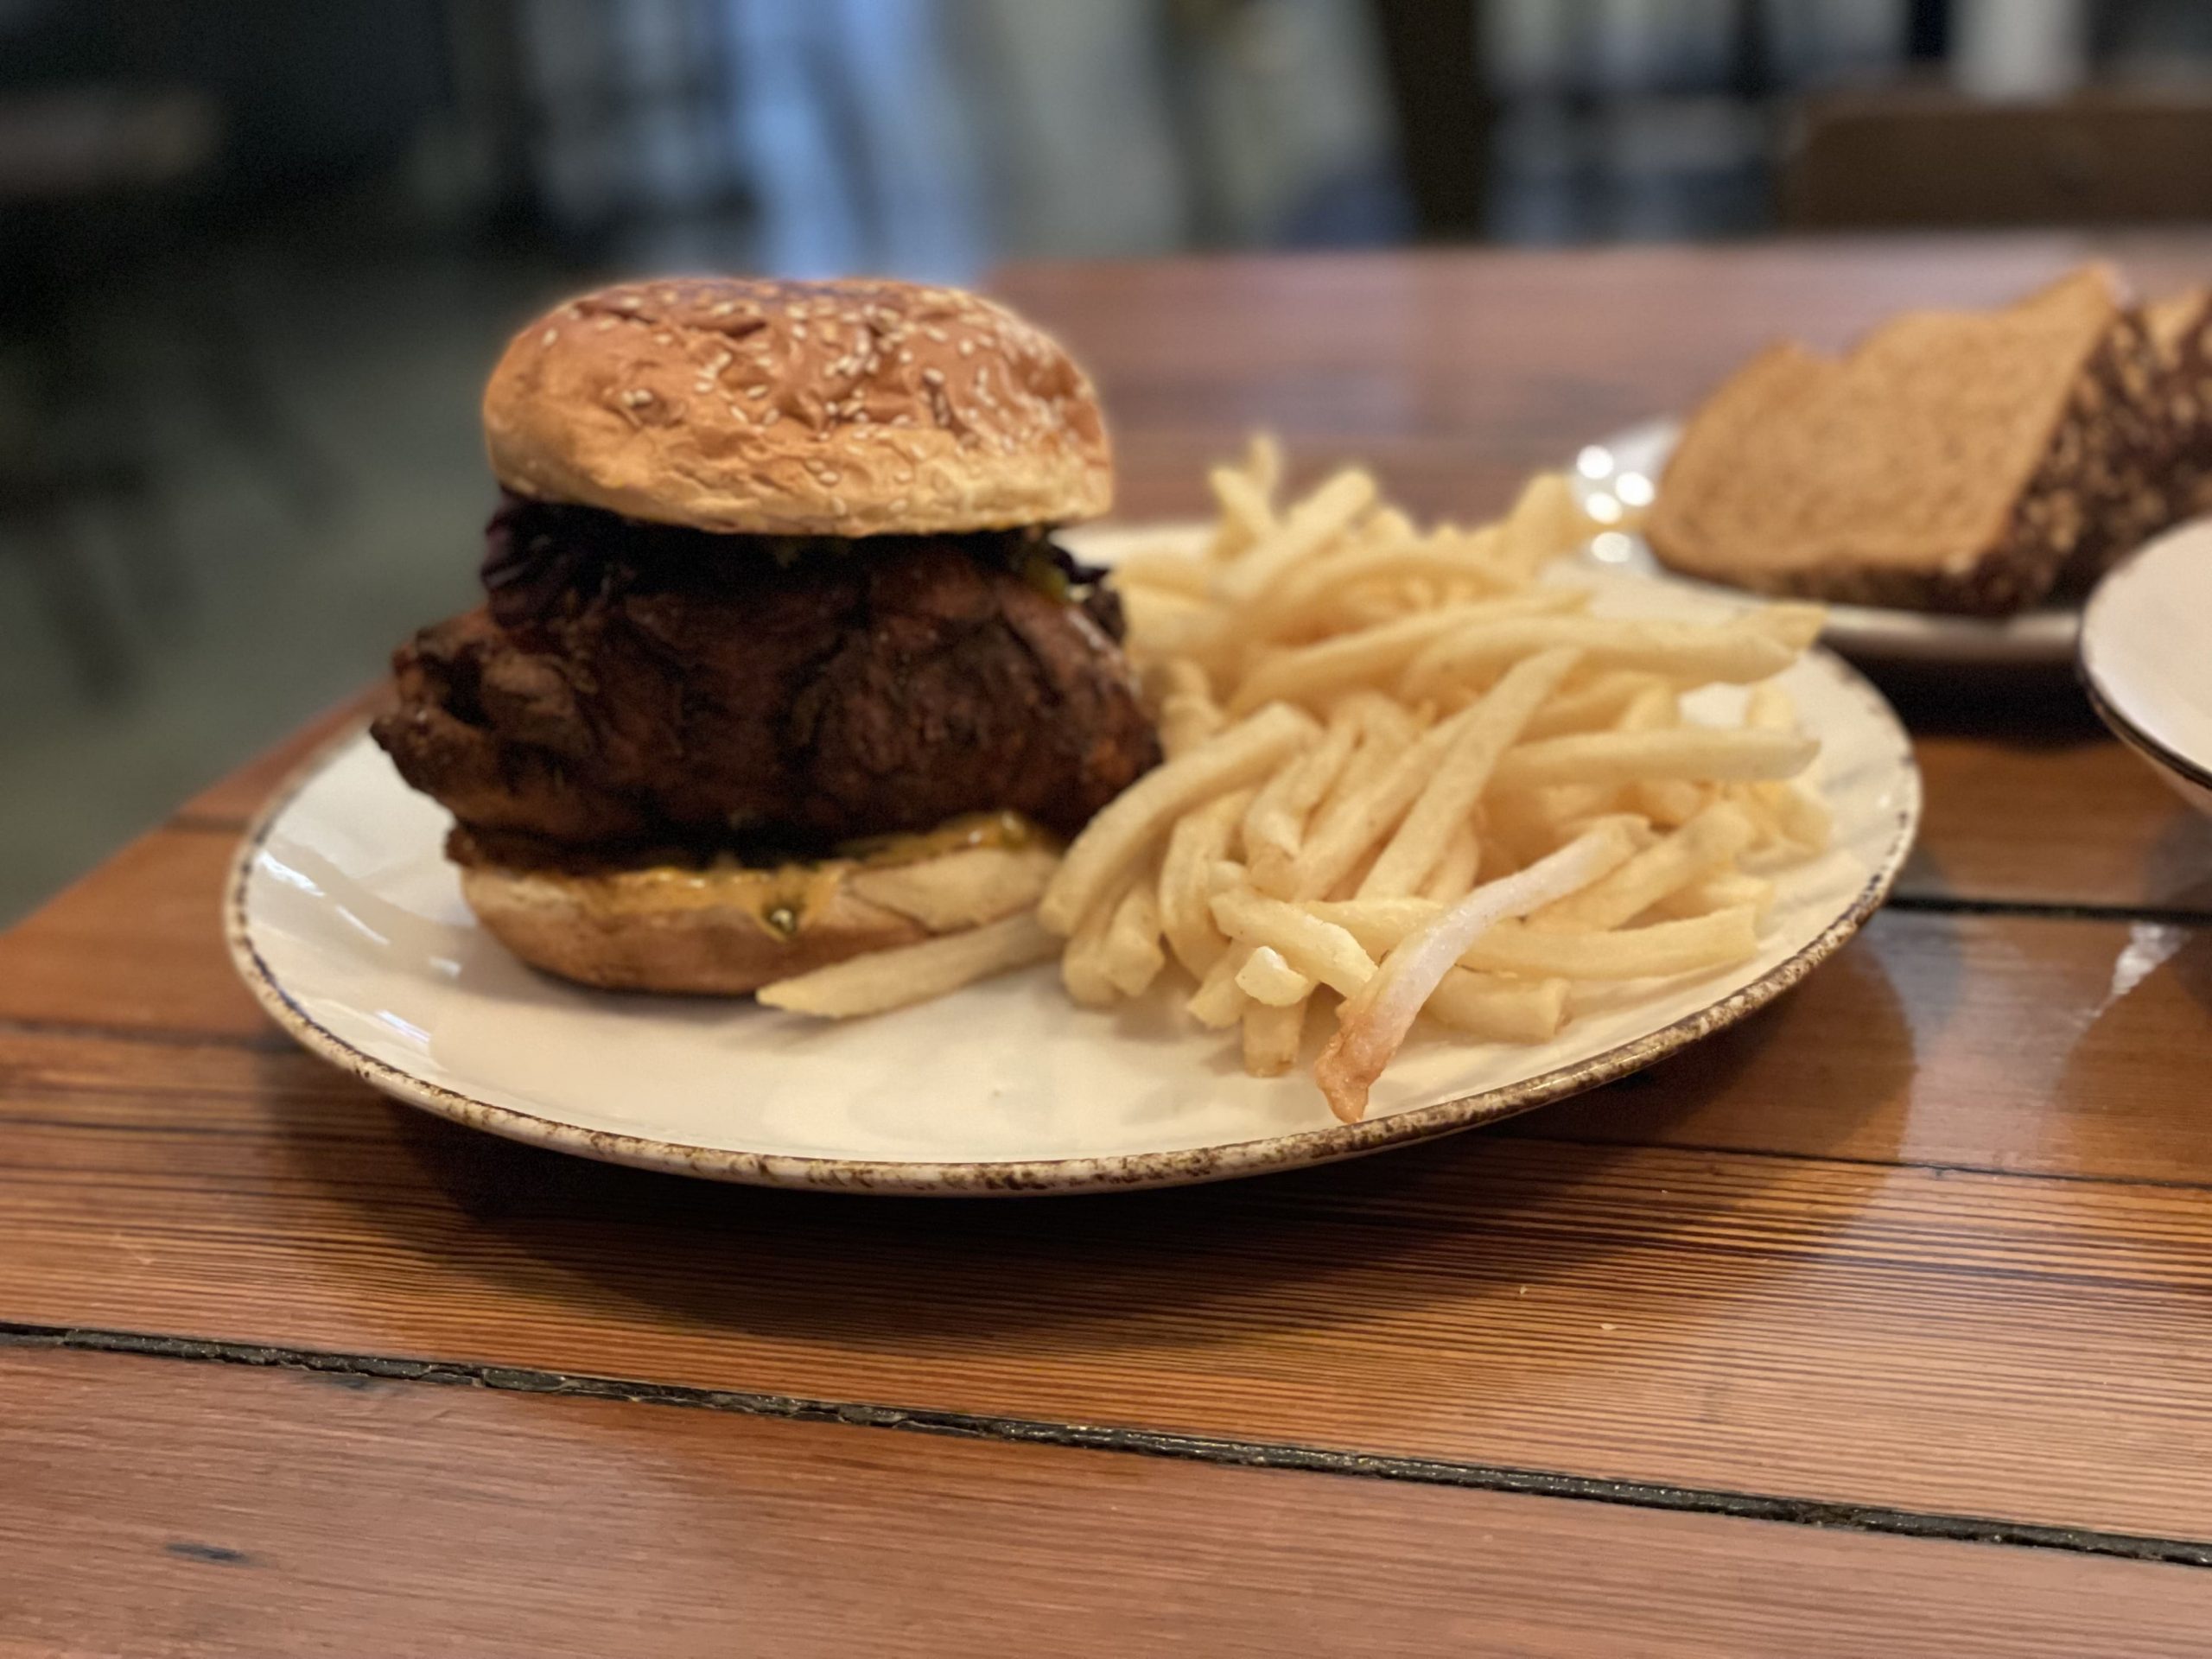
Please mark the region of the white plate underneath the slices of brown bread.
MULTIPOLYGON (((1575 489, 1599 518, 1621 504, 1644 507, 1659 484, 1681 425, 1650 420, 1588 445, 1575 458, 1575 489)), ((1606 531, 1586 555, 1593 564, 1648 575, 1699 593, 1730 593, 1710 582, 1674 575, 1650 551, 1650 542, 1626 531, 1606 531)), ((1940 664, 1953 668, 2055 668, 2073 661, 2079 611, 2044 608, 2017 617, 1947 617, 1936 611, 1885 611, 1867 604, 1836 604, 1827 611, 1823 641, 1865 664, 1940 664)))

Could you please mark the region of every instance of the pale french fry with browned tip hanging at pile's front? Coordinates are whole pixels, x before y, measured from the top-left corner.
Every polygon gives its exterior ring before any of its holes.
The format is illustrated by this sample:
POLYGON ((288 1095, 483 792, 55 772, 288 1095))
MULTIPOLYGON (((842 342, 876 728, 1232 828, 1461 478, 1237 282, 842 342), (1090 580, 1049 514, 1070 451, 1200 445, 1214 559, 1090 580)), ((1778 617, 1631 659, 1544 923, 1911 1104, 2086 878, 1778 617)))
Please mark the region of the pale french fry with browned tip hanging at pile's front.
MULTIPOLYGON (((1595 830, 1517 876, 1478 887, 1398 940, 1383 967, 1338 1009, 1336 1035, 1314 1064, 1314 1082, 1321 1084, 1329 1110, 1345 1124, 1367 1115, 1367 1095, 1413 1029, 1422 1004, 1451 973, 1451 964, 1484 933, 1588 887, 1617 869, 1630 852, 1632 845, 1617 825, 1595 830)), ((1672 922, 1672 927, 1690 925, 1672 922)))

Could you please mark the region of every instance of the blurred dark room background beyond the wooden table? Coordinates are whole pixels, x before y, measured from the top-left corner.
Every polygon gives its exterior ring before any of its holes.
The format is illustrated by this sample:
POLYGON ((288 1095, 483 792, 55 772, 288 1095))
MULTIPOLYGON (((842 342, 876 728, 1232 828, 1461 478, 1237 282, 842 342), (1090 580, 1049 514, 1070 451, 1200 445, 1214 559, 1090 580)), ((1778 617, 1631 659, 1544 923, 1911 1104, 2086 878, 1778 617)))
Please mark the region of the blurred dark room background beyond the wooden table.
POLYGON ((0 925, 469 604, 628 270, 2212 217, 2192 0, 0 0, 0 925))

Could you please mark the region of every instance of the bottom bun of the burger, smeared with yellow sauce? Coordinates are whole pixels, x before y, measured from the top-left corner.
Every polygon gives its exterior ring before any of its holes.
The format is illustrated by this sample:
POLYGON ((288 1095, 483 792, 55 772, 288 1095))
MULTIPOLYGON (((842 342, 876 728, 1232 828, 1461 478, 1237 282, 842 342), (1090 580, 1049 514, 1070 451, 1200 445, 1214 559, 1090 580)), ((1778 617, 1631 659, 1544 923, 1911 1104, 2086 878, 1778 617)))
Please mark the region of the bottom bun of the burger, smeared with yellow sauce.
POLYGON ((918 945, 1037 902, 1046 847, 960 847, 889 865, 577 876, 469 863, 460 891, 531 967, 608 991, 743 995, 867 951, 918 945))

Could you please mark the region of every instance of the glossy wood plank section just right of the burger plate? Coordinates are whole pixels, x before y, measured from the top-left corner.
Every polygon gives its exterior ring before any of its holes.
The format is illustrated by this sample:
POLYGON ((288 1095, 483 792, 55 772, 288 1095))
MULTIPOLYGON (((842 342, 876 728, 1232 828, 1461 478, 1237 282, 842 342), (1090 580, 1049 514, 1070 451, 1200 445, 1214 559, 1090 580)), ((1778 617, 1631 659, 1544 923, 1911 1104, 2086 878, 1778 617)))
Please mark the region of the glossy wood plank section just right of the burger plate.
POLYGON ((1781 1002, 1504 1133, 2212 1186, 2212 931, 1882 911, 1781 1002))

